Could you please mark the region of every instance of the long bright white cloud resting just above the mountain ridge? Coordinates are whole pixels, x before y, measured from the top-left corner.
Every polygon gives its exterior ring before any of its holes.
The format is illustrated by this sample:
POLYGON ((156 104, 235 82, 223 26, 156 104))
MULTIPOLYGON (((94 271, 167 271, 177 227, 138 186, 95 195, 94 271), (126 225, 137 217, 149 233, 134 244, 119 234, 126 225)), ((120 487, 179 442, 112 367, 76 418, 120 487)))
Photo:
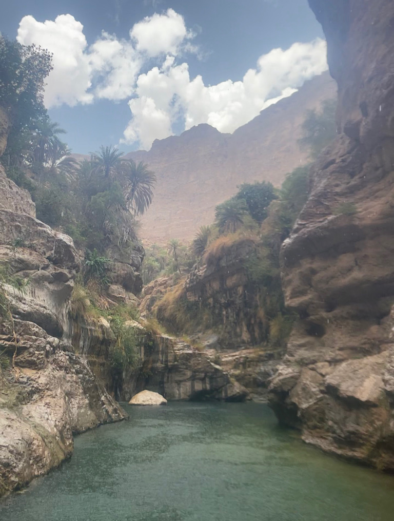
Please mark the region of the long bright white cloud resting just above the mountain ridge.
POLYGON ((129 136, 132 135, 133 141, 149 148, 157 139, 154 118, 151 126, 147 124, 149 107, 154 107, 155 113, 160 110, 169 115, 171 121, 182 114, 186 130, 199 123, 209 123, 221 132, 233 132, 325 70, 326 43, 321 39, 295 43, 285 51, 273 49, 260 56, 257 68, 249 69, 242 81, 227 80, 209 86, 201 76, 190 79, 187 64, 175 65, 174 59, 167 56, 161 69, 154 67, 139 75, 135 91, 139 103, 129 102, 133 119, 123 141, 131 143, 129 136), (139 127, 142 113, 146 119, 143 130, 139 127))

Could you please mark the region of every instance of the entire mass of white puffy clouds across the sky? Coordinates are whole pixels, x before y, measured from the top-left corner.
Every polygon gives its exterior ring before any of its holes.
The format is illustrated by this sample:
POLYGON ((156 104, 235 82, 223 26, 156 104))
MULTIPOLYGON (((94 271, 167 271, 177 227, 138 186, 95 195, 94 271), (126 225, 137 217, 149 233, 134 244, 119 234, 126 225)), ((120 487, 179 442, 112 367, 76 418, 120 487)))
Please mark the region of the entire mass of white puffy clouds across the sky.
POLYGON ((316 39, 272 49, 242 81, 206 85, 201 76, 190 78, 186 62, 177 62, 180 55, 198 55, 194 37, 184 18, 168 9, 135 23, 127 40, 103 32, 88 46, 82 24, 71 15, 45 22, 25 16, 17 39, 54 55, 44 97, 48 108, 99 98, 128 100, 131 120, 121 141, 144 148, 171 135, 175 123, 186 130, 209 123, 233 132, 327 70, 326 43, 316 39))

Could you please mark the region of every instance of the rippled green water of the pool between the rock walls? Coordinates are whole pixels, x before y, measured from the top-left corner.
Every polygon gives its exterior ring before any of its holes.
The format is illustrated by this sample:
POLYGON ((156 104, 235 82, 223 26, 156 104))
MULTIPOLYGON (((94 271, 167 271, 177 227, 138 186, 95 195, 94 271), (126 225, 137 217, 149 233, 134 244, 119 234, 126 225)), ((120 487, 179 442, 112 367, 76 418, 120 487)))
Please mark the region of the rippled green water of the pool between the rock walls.
POLYGON ((394 477, 277 427, 261 404, 128 407, 71 461, 0 503, 3 521, 392 521, 394 477))

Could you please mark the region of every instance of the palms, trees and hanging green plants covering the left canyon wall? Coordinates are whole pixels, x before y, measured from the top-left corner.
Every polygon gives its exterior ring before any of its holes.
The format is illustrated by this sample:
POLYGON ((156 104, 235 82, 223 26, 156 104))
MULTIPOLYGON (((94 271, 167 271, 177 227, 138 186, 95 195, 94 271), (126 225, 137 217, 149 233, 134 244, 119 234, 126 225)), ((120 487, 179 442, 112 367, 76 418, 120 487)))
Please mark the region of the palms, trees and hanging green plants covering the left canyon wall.
MULTIPOLYGON (((65 131, 50 121, 43 104, 51 59, 40 47, 0 36, 0 108, 7 138, 0 161, 7 177, 30 192, 37 218, 71 235, 85 251, 67 309, 75 323, 107 321, 113 337, 108 360, 119 372, 138 364, 138 348, 144 343, 132 323, 138 318, 132 295, 118 293, 123 284, 126 293, 138 291, 134 272, 141 265, 143 249, 135 218, 152 202, 156 177, 147 165, 125 160, 112 146, 100 146, 82 163, 70 156, 59 138, 65 131), (111 283, 118 284, 112 294, 111 283)), ((16 275, 19 261, 15 266, 12 261, 19 253, 24 255, 30 242, 21 232, 10 244, 11 258, 0 263, 2 322, 12 321, 14 313, 9 288, 23 294, 29 283, 24 274, 16 275)), ((10 365, 8 352, 0 351, 0 363, 3 368, 10 365)))

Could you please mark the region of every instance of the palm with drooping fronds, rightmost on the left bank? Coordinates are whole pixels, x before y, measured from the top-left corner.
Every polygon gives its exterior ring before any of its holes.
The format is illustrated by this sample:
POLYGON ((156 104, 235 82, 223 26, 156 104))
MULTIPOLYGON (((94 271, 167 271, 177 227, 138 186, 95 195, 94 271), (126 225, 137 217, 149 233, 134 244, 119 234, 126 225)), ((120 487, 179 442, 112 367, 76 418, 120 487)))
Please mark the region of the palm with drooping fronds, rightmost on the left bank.
POLYGON ((124 171, 126 206, 134 215, 143 215, 152 202, 156 176, 145 163, 140 161, 137 165, 133 159, 126 163, 124 171))

